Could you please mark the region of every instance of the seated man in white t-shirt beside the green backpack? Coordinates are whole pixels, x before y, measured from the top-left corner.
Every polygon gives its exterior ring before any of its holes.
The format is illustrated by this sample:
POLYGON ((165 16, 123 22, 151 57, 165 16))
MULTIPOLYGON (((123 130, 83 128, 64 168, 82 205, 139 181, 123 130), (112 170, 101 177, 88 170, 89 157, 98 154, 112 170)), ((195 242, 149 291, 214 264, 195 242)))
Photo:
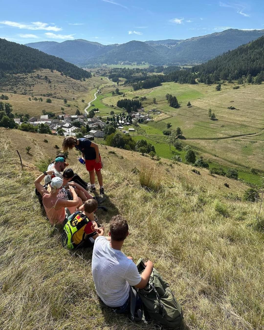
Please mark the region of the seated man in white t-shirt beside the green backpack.
POLYGON ((147 261, 140 275, 132 257, 121 252, 128 234, 126 220, 116 215, 110 222, 110 241, 104 236, 97 237, 93 248, 92 275, 96 292, 107 306, 115 309, 128 305, 130 285, 143 289, 148 284, 153 269, 152 262, 147 261))

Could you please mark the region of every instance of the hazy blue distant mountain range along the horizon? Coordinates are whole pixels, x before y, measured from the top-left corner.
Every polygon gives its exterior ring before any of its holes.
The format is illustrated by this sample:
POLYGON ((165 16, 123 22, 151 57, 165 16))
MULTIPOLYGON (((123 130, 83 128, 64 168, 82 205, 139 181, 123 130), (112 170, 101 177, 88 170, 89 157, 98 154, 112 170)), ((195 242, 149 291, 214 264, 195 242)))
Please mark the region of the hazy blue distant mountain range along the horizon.
POLYGON ((148 62, 149 64, 195 64, 206 62, 228 50, 247 44, 264 35, 263 30, 228 29, 186 40, 129 41, 125 44, 102 45, 84 39, 42 41, 26 44, 79 66, 148 62))

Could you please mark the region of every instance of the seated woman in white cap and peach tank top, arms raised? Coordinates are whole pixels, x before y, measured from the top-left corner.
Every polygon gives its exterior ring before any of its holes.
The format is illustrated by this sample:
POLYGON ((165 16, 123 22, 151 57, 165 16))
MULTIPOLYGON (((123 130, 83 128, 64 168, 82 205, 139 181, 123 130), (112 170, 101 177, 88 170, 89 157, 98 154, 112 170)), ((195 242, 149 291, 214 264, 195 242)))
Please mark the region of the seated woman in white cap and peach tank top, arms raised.
POLYGON ((49 218, 49 222, 51 224, 63 223, 66 219, 67 209, 69 214, 73 214, 76 209, 83 211, 83 206, 80 208, 81 202, 73 187, 70 186, 69 188, 70 192, 72 193, 73 200, 69 201, 57 197, 57 193, 63 184, 63 180, 61 178, 55 177, 51 180, 51 191, 49 193, 49 191, 46 190, 40 182, 45 178, 46 175, 52 175, 53 171, 50 170, 45 173, 46 174, 41 174, 34 183, 37 190, 42 195, 43 206, 49 218), (65 210, 65 208, 67 209, 65 210))

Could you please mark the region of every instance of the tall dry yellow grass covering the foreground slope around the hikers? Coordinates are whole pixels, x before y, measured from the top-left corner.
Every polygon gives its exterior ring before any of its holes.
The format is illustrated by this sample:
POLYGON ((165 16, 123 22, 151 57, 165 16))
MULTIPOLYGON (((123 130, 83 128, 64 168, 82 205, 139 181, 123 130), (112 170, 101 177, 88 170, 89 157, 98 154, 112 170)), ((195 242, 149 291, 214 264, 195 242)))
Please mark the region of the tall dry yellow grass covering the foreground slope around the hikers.
MULTIPOLYGON (((2 328, 153 329, 131 324, 101 305, 91 252, 61 247, 61 228, 50 227, 34 195, 39 171, 28 163, 21 172, 7 146, 1 140, 2 328)), ((183 307, 184 328, 263 329, 264 213, 256 218, 259 204, 224 197, 213 185, 207 190, 184 178, 148 192, 129 167, 119 166, 123 159, 116 159, 103 170, 109 212, 97 215, 106 232, 113 215, 125 215, 130 236, 123 252, 154 262, 183 307)), ((74 169, 87 178, 81 164, 74 169)), ((159 167, 155 172, 162 173, 159 167)))

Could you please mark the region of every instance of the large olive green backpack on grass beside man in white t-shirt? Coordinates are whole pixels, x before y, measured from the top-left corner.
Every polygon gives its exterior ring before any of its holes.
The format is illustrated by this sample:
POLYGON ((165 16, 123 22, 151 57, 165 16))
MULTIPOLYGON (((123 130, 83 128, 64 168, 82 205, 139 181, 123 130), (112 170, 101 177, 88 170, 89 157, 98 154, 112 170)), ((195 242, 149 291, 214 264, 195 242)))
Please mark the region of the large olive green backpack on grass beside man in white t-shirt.
MULTIPOLYGON (((137 262, 141 274, 145 269, 143 259, 137 262)), ((153 268, 149 284, 144 289, 137 289, 146 318, 159 322, 166 329, 177 329, 182 322, 182 307, 174 297, 170 285, 153 268)))

